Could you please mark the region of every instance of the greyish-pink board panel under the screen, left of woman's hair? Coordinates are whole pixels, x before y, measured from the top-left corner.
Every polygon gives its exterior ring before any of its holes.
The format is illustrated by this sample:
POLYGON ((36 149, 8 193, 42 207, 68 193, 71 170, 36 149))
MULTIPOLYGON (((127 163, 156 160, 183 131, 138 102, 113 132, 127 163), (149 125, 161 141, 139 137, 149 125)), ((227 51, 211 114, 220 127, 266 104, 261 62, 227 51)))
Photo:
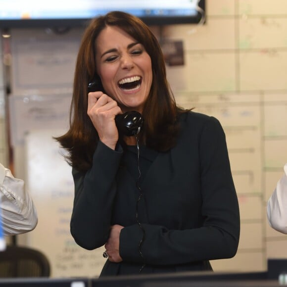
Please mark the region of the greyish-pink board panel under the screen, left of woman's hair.
POLYGON ((72 91, 82 29, 63 34, 50 29, 11 30, 11 89, 18 95, 72 91))

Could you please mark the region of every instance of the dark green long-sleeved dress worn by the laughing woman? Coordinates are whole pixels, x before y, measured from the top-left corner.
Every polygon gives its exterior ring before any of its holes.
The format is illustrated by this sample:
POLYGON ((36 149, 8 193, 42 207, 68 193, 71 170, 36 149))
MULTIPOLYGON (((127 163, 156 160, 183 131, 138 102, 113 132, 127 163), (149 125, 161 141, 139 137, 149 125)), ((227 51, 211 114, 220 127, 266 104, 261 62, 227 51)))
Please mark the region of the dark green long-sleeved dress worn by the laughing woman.
POLYGON ((92 168, 73 169, 75 241, 92 250, 105 244, 111 225, 124 226, 123 261, 107 260, 101 276, 139 274, 143 264, 142 274, 211 270, 209 260, 236 254, 239 205, 224 131, 214 117, 195 112, 180 124, 167 152, 140 146, 140 179, 135 147, 99 142, 92 168))

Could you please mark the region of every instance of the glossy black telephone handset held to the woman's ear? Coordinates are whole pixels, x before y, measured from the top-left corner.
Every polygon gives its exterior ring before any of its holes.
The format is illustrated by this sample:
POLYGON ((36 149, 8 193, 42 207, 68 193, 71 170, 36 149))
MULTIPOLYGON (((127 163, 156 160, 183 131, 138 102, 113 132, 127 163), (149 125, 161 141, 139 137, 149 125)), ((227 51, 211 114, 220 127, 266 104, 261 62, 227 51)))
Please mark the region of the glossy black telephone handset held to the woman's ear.
MULTIPOLYGON (((88 85, 88 92, 103 91, 100 80, 94 80, 88 85)), ((141 113, 137 111, 128 111, 124 114, 116 115, 116 126, 120 134, 125 136, 135 136, 140 133, 144 119, 141 113)))

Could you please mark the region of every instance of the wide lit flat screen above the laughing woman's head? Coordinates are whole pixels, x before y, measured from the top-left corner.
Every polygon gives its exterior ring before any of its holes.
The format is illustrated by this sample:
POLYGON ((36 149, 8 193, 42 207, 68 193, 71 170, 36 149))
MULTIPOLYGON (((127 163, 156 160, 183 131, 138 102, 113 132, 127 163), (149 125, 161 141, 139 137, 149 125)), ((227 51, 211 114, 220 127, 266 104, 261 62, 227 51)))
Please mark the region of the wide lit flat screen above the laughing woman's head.
POLYGON ((0 28, 83 27, 98 15, 121 10, 148 25, 198 23, 205 0, 0 0, 0 28))

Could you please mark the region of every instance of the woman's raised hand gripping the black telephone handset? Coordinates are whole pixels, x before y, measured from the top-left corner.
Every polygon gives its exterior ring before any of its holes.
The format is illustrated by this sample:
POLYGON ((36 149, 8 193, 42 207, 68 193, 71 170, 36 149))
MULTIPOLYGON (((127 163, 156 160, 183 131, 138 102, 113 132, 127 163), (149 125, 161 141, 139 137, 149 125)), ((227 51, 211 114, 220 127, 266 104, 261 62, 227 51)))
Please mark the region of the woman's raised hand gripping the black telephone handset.
POLYGON ((90 92, 88 94, 87 113, 98 133, 100 141, 115 149, 119 138, 115 116, 122 113, 117 102, 102 92, 90 92))

